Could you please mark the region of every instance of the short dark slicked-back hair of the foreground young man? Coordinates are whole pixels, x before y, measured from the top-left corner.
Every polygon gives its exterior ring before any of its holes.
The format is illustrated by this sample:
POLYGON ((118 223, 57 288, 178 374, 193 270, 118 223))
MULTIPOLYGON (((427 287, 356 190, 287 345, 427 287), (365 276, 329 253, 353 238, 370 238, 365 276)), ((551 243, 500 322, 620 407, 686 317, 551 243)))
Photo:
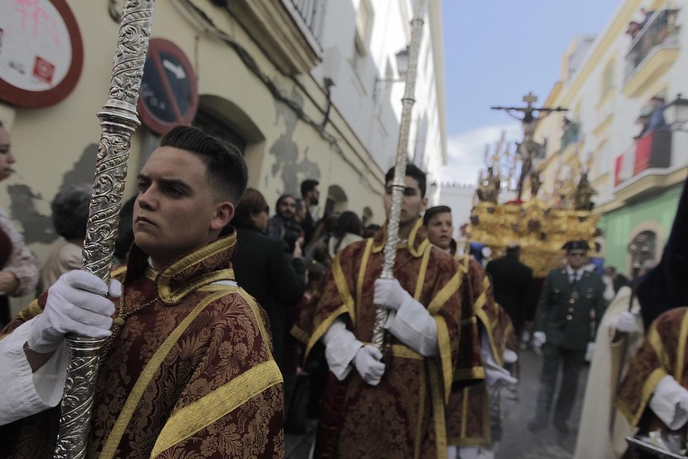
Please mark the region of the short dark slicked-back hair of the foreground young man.
POLYGON ((160 146, 180 148, 200 157, 206 164, 211 185, 220 199, 237 205, 246 191, 248 169, 239 149, 193 126, 175 126, 166 133, 160 146))

